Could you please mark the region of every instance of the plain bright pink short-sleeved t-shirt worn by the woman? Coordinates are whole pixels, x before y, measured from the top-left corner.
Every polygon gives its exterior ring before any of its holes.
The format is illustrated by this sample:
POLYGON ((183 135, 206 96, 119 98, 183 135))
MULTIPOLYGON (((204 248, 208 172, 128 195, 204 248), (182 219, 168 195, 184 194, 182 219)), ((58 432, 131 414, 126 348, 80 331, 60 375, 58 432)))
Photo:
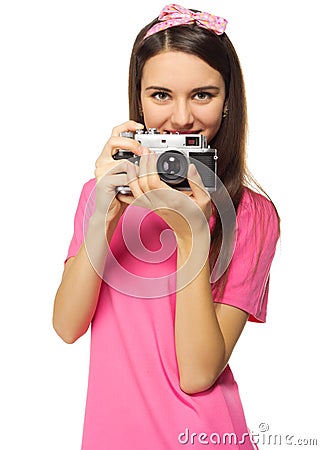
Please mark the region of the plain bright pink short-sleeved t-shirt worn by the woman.
MULTIPOLYGON (((67 259, 83 243, 94 188, 95 180, 83 187, 67 259)), ((111 241, 91 326, 82 450, 253 449, 229 366, 206 392, 181 391, 174 340, 175 239, 164 233, 169 227, 155 213, 129 208, 111 241)), ((271 202, 245 189, 237 231, 220 301, 263 322, 279 235, 271 202)))

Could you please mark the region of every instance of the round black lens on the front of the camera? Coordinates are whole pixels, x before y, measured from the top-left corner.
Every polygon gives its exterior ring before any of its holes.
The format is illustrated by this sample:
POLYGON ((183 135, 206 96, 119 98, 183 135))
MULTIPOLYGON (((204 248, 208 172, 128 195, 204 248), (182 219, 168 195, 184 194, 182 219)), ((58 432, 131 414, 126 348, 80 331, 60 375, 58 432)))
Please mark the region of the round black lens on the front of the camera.
POLYGON ((159 155, 157 159, 157 172, 161 180, 167 184, 179 184, 187 176, 188 160, 186 156, 177 151, 169 150, 159 155))

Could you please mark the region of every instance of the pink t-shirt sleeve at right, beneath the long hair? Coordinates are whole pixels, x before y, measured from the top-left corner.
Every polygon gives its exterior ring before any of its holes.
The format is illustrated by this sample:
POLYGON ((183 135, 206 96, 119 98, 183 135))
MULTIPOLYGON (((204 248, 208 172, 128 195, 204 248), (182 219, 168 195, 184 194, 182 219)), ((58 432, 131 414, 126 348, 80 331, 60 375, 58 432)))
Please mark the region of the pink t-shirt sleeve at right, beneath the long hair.
POLYGON ((253 322, 265 322, 270 268, 279 238, 275 207, 263 195, 245 189, 237 215, 237 234, 223 296, 213 285, 214 302, 242 309, 253 322))

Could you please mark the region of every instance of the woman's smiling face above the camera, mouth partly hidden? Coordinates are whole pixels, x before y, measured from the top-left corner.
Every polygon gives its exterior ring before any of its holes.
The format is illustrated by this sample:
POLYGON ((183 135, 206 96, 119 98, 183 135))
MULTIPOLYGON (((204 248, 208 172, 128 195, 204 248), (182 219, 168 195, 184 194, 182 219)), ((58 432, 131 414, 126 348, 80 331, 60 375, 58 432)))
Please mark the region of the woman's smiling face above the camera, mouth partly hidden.
POLYGON ((197 56, 163 52, 145 63, 141 105, 146 128, 161 133, 201 133, 210 142, 224 109, 221 74, 197 56))

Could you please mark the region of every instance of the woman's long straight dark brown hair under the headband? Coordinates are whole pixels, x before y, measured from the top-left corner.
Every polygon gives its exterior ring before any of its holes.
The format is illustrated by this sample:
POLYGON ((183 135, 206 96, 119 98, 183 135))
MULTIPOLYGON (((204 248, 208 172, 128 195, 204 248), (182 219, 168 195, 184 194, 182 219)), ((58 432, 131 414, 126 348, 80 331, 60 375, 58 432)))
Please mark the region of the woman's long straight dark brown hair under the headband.
MULTIPOLYGON (((144 39, 146 32, 158 20, 144 27, 133 45, 129 67, 129 115, 130 119, 143 122, 141 115, 141 79, 146 61, 165 51, 180 51, 199 57, 220 72, 225 82, 225 105, 228 116, 216 136, 210 142, 218 149, 217 175, 227 189, 235 210, 242 198, 243 189, 251 179, 246 167, 247 108, 243 74, 236 51, 224 33, 214 32, 196 24, 180 25, 160 31, 144 39)), ((173 70, 175 70, 173 68, 173 70)), ((211 265, 216 261, 222 243, 222 224, 217 211, 216 225, 211 236, 211 265)), ((219 280, 223 294, 226 275, 219 280)))

